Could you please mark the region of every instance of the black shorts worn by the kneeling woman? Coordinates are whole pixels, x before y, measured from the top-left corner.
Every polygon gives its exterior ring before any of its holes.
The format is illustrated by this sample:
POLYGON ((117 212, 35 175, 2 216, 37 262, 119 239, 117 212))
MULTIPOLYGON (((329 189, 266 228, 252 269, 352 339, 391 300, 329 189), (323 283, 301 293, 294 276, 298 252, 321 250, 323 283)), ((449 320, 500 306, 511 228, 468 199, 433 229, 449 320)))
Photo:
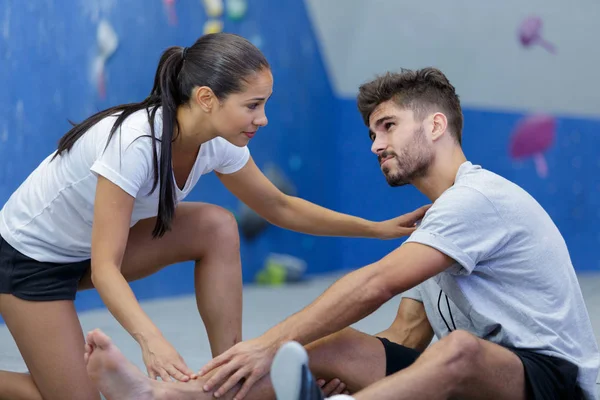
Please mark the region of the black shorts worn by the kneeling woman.
POLYGON ((90 260, 68 264, 36 261, 0 236, 0 293, 23 300, 75 300, 79 281, 90 260))

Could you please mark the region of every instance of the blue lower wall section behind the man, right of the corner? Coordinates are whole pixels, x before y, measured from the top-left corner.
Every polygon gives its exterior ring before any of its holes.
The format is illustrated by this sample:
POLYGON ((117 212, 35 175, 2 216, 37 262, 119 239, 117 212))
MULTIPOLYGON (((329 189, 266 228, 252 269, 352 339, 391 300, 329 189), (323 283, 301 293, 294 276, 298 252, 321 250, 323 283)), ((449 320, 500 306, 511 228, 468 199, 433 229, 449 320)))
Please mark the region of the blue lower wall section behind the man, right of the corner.
MULTIPOLYGON (((339 162, 347 177, 340 184, 341 211, 381 220, 427 204, 429 200, 412 186, 388 186, 370 151, 355 101, 340 100, 339 110, 339 129, 344 132, 338 138, 339 162)), ((600 120, 557 117, 556 139, 545 154, 548 177, 540 178, 531 159, 509 157, 511 133, 524 115, 471 108, 463 113, 467 158, 517 183, 540 202, 563 234, 578 272, 600 271, 596 251, 600 243, 600 120)), ((366 265, 402 241, 341 242, 341 265, 366 265)))

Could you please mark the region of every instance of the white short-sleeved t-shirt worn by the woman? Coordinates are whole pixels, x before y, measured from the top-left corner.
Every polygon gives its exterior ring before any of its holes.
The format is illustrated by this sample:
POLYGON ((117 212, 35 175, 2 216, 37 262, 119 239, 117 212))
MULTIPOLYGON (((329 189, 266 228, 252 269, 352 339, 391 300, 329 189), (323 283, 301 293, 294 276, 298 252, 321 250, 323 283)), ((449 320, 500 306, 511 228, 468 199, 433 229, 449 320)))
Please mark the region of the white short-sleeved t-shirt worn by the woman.
MULTIPOLYGON (((29 175, 0 210, 4 240, 38 261, 70 263, 90 258, 97 174, 135 197, 131 226, 158 214, 159 187, 149 195, 154 167, 148 114, 141 110, 128 117, 106 147, 115 120, 104 118, 68 153, 53 161, 51 154, 29 175)), ((156 113, 155 133, 162 136, 161 109, 156 113)), ((157 149, 160 160, 160 142, 157 149)), ((200 176, 213 170, 236 172, 249 157, 247 147, 220 137, 202 144, 185 187, 180 190, 175 185, 177 203, 200 176)))

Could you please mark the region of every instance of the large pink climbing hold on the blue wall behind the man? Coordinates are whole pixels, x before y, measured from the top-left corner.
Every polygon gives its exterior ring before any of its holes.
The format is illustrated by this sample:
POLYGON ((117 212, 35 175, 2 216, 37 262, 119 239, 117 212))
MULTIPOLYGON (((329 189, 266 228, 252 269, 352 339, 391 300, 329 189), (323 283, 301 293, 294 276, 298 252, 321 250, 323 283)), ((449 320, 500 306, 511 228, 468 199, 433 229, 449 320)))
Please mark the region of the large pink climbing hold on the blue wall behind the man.
POLYGON ((513 159, 532 157, 537 174, 548 176, 548 164, 544 152, 554 143, 556 119, 549 115, 532 115, 517 124, 510 141, 510 156, 513 159))

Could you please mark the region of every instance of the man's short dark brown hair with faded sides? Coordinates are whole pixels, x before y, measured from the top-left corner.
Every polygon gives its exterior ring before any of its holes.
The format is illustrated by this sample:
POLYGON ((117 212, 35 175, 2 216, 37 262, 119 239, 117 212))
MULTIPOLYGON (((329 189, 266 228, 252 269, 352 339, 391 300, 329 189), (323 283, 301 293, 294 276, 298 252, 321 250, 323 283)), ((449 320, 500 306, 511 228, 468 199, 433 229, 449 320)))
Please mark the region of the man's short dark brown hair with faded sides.
POLYGON ((375 108, 388 100, 394 100, 402 108, 411 109, 415 118, 421 121, 428 113, 443 112, 448 119, 448 130, 458 144, 462 143, 460 100, 454 86, 439 69, 428 67, 388 72, 361 85, 357 100, 366 126, 369 126, 369 118, 375 108))

